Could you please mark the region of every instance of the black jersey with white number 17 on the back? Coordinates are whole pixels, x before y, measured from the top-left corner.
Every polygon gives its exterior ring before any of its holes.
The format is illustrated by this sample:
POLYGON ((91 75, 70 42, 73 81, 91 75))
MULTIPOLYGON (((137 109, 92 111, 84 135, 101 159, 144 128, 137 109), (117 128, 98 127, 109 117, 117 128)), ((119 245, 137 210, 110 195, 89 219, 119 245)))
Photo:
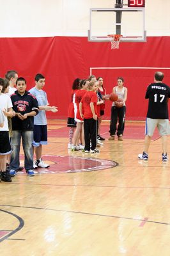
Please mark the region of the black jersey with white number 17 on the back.
POLYGON ((168 119, 168 98, 170 98, 169 86, 164 83, 150 84, 145 95, 145 99, 149 99, 147 117, 168 119))

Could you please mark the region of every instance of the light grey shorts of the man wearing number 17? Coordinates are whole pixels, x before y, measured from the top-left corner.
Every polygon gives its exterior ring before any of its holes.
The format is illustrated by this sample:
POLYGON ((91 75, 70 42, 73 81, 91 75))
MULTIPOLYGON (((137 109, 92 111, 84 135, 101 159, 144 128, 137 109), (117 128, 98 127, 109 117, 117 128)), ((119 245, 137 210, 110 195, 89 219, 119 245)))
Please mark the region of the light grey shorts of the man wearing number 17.
POLYGON ((145 124, 145 135, 148 135, 150 137, 153 136, 153 132, 155 131, 156 127, 158 127, 158 132, 160 136, 170 134, 168 119, 152 119, 147 117, 145 124))

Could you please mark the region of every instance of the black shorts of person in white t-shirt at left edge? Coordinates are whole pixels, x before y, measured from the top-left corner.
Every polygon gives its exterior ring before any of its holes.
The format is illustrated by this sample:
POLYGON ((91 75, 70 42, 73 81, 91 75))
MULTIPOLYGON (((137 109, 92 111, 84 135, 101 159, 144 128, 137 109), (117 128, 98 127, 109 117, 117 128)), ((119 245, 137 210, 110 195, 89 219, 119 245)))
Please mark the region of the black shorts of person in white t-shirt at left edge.
POLYGON ((8 155, 12 152, 8 131, 0 131, 0 155, 8 155))

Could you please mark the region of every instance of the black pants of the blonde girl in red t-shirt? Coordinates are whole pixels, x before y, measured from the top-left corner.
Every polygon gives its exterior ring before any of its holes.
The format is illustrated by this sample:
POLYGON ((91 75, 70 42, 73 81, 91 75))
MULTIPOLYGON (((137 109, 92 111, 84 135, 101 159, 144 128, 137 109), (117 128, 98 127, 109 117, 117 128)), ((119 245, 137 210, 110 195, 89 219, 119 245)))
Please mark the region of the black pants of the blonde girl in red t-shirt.
POLYGON ((84 119, 84 150, 90 150, 90 140, 91 150, 94 150, 97 146, 97 121, 93 118, 84 119))

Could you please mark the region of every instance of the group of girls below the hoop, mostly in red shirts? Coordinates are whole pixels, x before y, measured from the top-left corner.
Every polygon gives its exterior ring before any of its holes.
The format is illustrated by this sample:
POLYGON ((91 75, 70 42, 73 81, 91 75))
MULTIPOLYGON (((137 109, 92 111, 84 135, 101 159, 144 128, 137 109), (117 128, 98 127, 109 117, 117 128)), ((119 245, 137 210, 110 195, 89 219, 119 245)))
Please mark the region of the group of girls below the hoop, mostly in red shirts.
MULTIPOLYGON (((123 86, 123 82, 123 78, 118 77, 118 86, 112 89, 121 99, 121 103, 112 102, 109 140, 114 140, 116 134, 118 140, 123 140, 127 100, 127 88, 123 86)), ((105 140, 100 136, 100 125, 107 99, 109 95, 105 92, 102 77, 91 75, 88 79, 77 78, 73 81, 68 108, 68 148, 73 151, 83 150, 85 153, 99 153, 97 147, 103 145, 101 141, 105 140)))

